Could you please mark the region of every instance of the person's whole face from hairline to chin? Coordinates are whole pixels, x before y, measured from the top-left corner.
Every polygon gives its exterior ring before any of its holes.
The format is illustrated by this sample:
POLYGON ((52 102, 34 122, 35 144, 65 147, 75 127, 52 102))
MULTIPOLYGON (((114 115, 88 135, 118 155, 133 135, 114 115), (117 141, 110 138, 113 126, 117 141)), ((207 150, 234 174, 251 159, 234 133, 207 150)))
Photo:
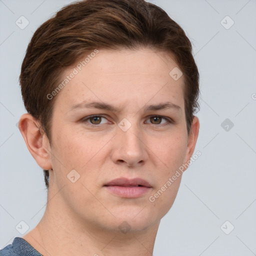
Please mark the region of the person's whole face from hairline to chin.
POLYGON ((169 178, 196 140, 186 130, 183 76, 169 75, 170 55, 148 49, 99 50, 80 70, 79 61, 54 103, 50 189, 81 224, 144 230, 170 209, 181 175, 169 178))

